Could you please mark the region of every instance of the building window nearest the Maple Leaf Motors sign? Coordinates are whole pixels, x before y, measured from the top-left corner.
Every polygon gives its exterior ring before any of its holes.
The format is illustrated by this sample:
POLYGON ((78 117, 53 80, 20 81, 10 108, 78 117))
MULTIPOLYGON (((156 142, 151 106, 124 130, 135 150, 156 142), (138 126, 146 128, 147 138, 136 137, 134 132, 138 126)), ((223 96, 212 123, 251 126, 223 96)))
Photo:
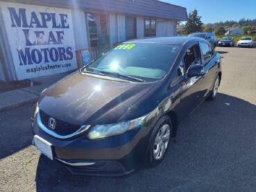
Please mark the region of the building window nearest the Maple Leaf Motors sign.
POLYGON ((110 44, 108 15, 87 13, 89 45, 91 47, 110 44))

